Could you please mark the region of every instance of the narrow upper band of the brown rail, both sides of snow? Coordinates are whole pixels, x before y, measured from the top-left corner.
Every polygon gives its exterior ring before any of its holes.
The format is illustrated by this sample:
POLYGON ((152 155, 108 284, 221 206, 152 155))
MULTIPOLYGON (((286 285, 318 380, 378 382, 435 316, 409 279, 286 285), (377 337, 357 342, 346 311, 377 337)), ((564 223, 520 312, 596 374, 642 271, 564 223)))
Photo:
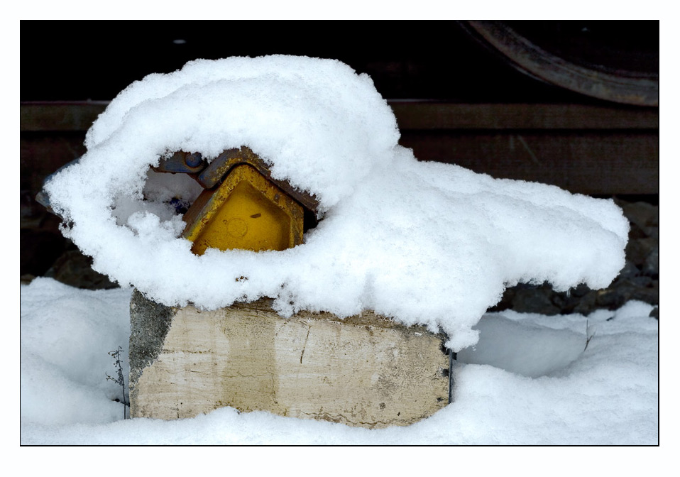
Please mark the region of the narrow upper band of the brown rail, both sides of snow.
MULTIPOLYGON (((87 131, 109 102, 24 102, 21 131, 87 131)), ((659 110, 588 104, 388 101, 402 131, 659 128, 659 110)))

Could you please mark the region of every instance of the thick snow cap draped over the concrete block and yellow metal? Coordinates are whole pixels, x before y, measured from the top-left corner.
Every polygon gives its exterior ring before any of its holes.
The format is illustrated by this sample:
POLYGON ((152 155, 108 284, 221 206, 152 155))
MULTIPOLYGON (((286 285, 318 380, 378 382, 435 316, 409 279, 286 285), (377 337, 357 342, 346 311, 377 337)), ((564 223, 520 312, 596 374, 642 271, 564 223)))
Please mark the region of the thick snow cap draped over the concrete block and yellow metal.
POLYGON ((628 224, 612 201, 419 163, 371 79, 335 60, 197 60, 131 84, 87 135, 87 153, 46 188, 94 268, 165 305, 275 298, 341 317, 374 309, 474 344, 506 285, 607 286, 628 224), (319 199, 322 221, 287 251, 190 252, 168 202, 200 192, 149 172, 164 154, 209 159, 248 146, 274 177, 319 199))

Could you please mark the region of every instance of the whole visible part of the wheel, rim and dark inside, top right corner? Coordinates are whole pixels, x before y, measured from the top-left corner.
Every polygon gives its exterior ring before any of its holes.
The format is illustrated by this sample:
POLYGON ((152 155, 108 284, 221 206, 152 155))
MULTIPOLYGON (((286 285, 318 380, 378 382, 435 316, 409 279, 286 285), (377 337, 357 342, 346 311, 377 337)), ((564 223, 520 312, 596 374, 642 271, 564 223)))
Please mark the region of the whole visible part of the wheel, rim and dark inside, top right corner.
POLYGON ((462 23, 534 78, 611 102, 659 106, 658 22, 462 23))

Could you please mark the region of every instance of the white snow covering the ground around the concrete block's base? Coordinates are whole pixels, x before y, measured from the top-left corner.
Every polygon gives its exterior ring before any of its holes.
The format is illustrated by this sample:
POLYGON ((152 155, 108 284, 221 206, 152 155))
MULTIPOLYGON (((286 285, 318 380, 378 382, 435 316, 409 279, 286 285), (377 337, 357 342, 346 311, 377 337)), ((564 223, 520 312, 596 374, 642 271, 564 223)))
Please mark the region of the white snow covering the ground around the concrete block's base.
POLYGON ((106 373, 108 352, 127 349, 130 295, 50 278, 21 286, 22 444, 658 443, 658 322, 642 302, 587 318, 486 314, 476 351, 459 353, 454 402, 410 427, 368 430, 231 407, 123 420, 106 373))

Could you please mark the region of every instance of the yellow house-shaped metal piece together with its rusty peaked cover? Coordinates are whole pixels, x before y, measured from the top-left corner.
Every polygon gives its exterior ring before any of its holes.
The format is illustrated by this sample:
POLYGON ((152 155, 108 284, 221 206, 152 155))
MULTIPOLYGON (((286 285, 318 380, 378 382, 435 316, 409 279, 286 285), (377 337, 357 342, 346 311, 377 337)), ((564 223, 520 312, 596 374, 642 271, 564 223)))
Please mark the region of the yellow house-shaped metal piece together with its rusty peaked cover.
MULTIPOLYGON (((175 153, 162 171, 185 172, 192 157, 175 153)), ((195 163, 200 167, 202 158, 195 163)), ((274 179, 268 164, 246 146, 225 150, 190 175, 204 190, 184 214, 182 236, 198 255, 207 248, 284 250, 302 243, 305 231, 317 224, 316 198, 274 179)))

